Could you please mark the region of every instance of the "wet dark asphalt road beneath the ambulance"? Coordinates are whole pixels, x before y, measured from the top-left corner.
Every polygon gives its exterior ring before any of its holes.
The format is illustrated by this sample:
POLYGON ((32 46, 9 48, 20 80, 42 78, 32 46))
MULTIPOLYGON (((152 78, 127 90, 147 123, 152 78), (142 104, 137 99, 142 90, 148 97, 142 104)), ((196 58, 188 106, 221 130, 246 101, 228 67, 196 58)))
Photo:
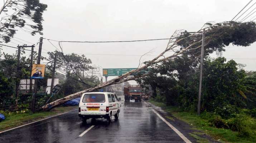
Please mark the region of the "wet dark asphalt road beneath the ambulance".
POLYGON ((82 123, 78 110, 0 134, 0 143, 179 143, 184 141, 145 102, 122 104, 119 120, 82 123), (94 127, 78 137, 86 129, 94 127))

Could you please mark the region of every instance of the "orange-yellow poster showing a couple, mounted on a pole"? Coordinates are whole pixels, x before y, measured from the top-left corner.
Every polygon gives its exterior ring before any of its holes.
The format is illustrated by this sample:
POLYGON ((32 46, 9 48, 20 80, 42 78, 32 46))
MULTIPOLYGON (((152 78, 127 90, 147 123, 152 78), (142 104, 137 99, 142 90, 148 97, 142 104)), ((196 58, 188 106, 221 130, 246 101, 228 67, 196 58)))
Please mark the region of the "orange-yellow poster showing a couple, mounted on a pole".
POLYGON ((45 71, 45 64, 33 64, 31 78, 43 79, 45 71))

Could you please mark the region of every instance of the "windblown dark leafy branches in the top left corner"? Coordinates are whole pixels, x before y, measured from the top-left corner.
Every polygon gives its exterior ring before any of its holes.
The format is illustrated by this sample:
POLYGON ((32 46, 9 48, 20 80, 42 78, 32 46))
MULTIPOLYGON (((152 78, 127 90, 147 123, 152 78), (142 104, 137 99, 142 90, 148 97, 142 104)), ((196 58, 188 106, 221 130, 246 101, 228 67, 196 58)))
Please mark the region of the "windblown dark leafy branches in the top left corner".
POLYGON ((46 8, 47 5, 40 3, 39 0, 4 1, 3 9, 0 10, 0 42, 10 42, 17 28, 23 28, 31 35, 42 35, 42 15, 46 8))

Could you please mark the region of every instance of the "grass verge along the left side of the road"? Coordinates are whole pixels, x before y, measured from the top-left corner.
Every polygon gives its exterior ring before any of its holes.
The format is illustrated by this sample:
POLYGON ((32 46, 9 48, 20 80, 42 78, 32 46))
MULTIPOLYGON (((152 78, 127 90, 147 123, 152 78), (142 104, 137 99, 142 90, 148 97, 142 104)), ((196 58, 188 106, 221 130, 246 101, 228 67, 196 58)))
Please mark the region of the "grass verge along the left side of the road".
POLYGON ((21 126, 26 123, 37 121, 37 120, 40 120, 49 116, 57 115, 63 112, 71 111, 76 108, 78 107, 77 106, 56 107, 50 111, 40 111, 34 114, 32 112, 4 113, 4 116, 6 117, 6 119, 0 122, 0 131, 21 126))

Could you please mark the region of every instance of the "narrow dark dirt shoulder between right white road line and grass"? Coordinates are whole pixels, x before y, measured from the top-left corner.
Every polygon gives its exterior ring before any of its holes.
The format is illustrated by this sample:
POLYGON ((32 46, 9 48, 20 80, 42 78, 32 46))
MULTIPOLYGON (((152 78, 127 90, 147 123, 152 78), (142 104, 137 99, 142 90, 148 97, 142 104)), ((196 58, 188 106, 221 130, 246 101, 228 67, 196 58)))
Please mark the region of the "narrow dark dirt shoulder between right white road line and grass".
POLYGON ((160 113, 161 116, 165 118, 170 124, 172 124, 175 128, 177 128, 180 132, 184 134, 191 142, 198 143, 219 143, 216 139, 208 136, 206 133, 199 131, 194 128, 193 125, 179 120, 177 117, 173 116, 170 112, 162 109, 159 106, 154 105, 154 103, 150 103, 146 101, 146 103, 160 113))

